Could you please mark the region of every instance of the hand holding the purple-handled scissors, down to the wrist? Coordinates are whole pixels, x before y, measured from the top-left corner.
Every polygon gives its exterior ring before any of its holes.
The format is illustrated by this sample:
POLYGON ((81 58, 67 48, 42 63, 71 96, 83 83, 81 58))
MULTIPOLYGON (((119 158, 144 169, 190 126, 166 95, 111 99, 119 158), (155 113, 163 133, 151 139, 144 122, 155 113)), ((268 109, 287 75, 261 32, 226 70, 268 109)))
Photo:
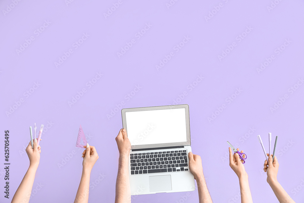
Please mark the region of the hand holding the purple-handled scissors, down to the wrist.
MULTIPOLYGON (((237 148, 237 151, 240 149, 237 148)), ((231 147, 229 147, 229 166, 232 168, 234 173, 237 174, 237 177, 240 178, 241 176, 247 176, 247 173, 245 171, 245 167, 243 165, 243 160, 240 159, 240 156, 238 153, 233 154, 231 147)), ((241 151, 243 153, 243 150, 241 151)), ((245 158, 245 155, 243 154, 243 158, 245 158)))

